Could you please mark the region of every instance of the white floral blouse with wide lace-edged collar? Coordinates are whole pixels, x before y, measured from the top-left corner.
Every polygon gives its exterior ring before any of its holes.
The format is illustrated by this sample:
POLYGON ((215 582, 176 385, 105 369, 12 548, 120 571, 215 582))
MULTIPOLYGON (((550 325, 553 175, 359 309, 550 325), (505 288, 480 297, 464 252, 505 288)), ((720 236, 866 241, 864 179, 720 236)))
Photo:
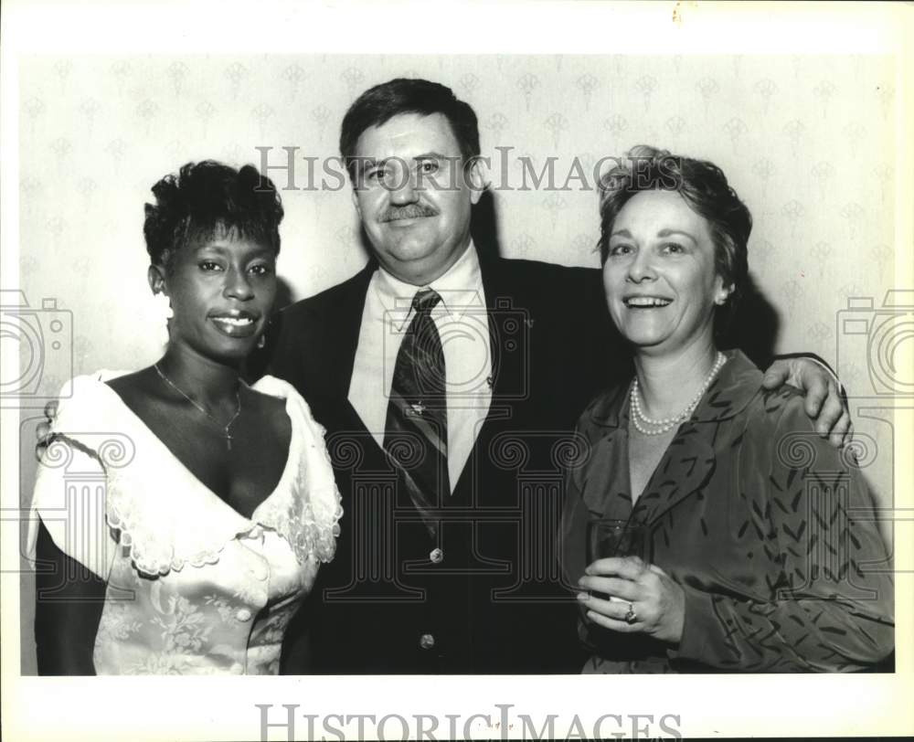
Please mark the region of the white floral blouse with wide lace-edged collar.
MULTIPOLYGON (((55 544, 106 582, 99 674, 276 674, 286 624, 334 556, 342 514, 324 430, 288 384, 292 440, 280 482, 250 519, 178 461, 103 383, 61 394, 32 508, 55 544)), ((30 545, 37 540, 32 518, 30 545)))

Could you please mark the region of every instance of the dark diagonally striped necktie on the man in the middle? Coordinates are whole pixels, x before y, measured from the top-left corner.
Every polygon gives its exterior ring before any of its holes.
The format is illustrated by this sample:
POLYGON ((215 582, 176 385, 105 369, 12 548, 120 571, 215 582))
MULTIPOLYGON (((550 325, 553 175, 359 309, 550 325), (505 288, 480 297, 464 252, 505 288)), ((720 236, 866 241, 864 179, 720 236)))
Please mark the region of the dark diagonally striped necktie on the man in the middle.
POLYGON ((431 319, 440 301, 430 289, 412 300, 415 314, 397 354, 384 429, 384 450, 402 472, 409 497, 432 533, 432 511, 451 493, 444 350, 431 319))

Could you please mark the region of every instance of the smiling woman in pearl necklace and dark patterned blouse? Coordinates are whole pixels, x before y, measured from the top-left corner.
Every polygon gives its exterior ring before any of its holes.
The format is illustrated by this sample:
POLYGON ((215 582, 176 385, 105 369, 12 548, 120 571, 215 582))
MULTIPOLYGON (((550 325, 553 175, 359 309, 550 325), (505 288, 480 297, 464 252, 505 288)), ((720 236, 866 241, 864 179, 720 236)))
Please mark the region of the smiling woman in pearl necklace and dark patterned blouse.
POLYGON ((894 646, 887 549, 853 447, 792 387, 761 388, 716 326, 747 281, 749 210, 707 162, 637 147, 601 182, 600 254, 635 378, 580 416, 567 577, 584 672, 852 672, 894 646), (642 526, 592 563, 588 522, 642 526))

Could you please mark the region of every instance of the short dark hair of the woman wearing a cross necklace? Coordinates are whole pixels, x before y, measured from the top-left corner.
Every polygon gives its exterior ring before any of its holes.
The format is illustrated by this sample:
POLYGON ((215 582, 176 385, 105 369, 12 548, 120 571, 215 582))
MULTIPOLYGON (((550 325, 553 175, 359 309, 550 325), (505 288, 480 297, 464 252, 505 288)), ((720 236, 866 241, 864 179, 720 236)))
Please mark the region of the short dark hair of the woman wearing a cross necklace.
POLYGON ((270 178, 246 164, 187 163, 153 185, 143 235, 154 265, 168 268, 177 250, 228 232, 280 250, 282 200, 270 178))

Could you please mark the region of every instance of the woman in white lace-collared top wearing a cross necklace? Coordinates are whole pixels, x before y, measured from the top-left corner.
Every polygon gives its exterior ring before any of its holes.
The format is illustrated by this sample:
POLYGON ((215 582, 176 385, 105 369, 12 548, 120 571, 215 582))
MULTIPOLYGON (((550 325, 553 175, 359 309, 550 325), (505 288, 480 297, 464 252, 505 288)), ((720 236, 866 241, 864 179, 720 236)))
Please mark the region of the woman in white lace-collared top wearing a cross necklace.
POLYGON ((32 505, 38 672, 278 673, 341 514, 303 398, 241 379, 276 294, 282 204, 255 168, 211 161, 153 193, 169 342, 153 366, 61 392, 32 505))

